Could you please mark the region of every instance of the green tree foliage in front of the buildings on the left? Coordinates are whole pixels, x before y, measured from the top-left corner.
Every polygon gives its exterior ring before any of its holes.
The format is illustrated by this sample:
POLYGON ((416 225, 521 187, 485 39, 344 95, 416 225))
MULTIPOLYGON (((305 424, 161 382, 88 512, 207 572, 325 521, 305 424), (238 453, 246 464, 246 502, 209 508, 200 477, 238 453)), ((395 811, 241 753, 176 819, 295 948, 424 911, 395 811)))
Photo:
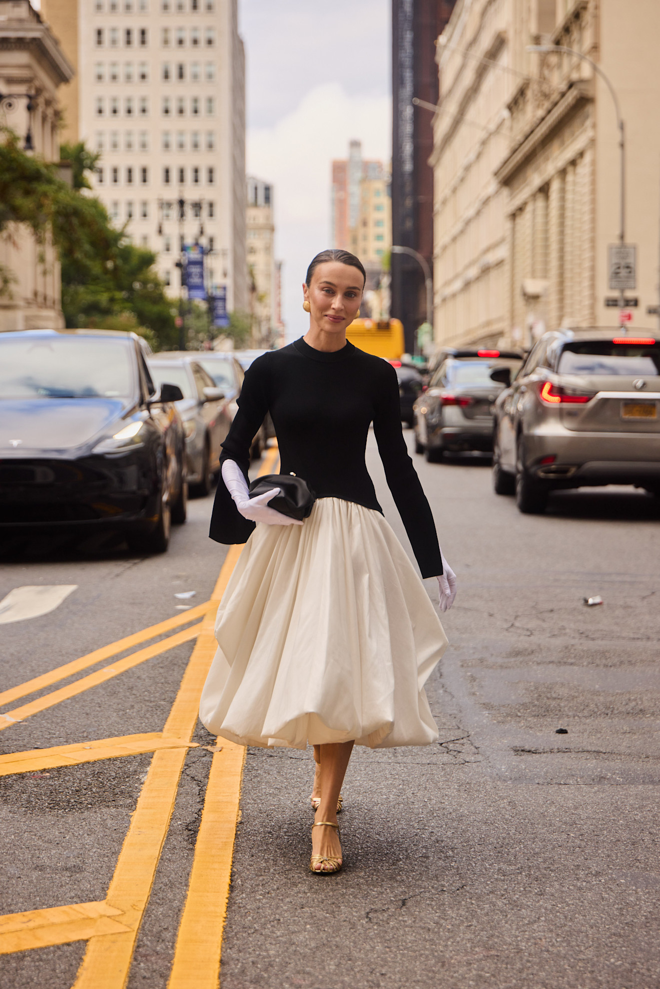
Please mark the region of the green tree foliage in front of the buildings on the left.
POLYGON ((63 144, 72 166, 72 188, 57 166, 26 154, 17 135, 0 144, 0 232, 29 225, 38 243, 52 237, 61 262, 66 325, 113 328, 124 317, 154 349, 176 345, 171 303, 153 263, 155 254, 116 229, 100 200, 84 190, 98 156, 84 144, 63 144))

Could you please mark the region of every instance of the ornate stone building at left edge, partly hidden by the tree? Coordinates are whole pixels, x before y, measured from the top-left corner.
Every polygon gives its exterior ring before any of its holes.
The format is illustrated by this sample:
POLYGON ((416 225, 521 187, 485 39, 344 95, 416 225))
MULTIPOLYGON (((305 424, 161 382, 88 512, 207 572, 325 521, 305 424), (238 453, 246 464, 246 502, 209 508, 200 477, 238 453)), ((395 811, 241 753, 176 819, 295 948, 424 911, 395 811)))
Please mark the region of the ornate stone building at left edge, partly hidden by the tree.
MULTIPOLYGON (((0 124, 26 150, 59 160, 57 87, 73 69, 29 0, 0 0, 0 124)), ((52 244, 14 226, 0 236, 0 330, 64 325, 52 244)))

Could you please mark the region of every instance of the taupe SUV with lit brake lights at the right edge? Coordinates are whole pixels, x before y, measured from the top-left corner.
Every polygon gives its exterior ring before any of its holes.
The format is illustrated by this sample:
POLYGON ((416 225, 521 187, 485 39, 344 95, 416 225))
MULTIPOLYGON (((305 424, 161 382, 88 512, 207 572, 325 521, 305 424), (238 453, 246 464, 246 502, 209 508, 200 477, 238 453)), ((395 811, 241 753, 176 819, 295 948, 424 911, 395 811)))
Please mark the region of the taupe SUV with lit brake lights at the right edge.
MULTIPOLYGON (((508 385, 506 375, 501 379, 508 385)), ((520 511, 557 488, 660 494, 660 340, 652 331, 545 333, 496 403, 493 483, 520 511)))

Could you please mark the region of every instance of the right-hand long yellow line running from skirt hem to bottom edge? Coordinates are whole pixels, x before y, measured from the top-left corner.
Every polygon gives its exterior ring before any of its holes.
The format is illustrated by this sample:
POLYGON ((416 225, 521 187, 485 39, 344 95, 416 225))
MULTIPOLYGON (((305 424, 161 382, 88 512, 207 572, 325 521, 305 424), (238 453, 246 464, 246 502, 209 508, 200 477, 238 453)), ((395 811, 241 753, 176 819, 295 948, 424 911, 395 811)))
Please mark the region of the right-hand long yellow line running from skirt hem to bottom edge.
POLYGON ((168 989, 217 989, 236 837, 242 746, 213 757, 168 989))

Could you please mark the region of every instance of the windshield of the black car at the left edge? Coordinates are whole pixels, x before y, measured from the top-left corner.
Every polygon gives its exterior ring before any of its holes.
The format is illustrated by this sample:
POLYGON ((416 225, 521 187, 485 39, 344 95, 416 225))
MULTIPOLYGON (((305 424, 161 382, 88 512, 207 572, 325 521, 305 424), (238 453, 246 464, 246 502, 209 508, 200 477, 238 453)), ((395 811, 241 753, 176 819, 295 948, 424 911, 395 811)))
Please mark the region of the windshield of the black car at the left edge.
POLYGON ((135 391, 126 338, 0 334, 0 399, 117 399, 135 391))

